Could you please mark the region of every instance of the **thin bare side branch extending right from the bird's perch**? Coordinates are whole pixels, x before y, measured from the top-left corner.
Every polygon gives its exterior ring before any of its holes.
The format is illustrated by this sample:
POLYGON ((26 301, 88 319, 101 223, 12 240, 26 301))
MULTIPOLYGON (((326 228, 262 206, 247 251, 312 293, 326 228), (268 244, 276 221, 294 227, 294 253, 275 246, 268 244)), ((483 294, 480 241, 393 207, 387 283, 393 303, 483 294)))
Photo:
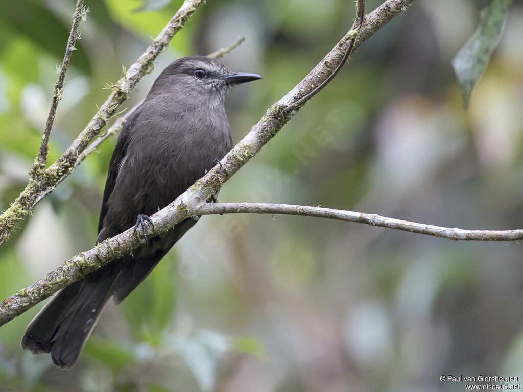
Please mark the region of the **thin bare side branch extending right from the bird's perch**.
POLYGON ((377 214, 335 210, 307 205, 275 203, 207 203, 194 212, 197 216, 213 214, 282 214, 313 216, 338 221, 364 223, 366 225, 403 230, 404 232, 452 239, 454 241, 516 241, 523 239, 523 230, 464 230, 458 227, 441 227, 402 221, 377 214))

